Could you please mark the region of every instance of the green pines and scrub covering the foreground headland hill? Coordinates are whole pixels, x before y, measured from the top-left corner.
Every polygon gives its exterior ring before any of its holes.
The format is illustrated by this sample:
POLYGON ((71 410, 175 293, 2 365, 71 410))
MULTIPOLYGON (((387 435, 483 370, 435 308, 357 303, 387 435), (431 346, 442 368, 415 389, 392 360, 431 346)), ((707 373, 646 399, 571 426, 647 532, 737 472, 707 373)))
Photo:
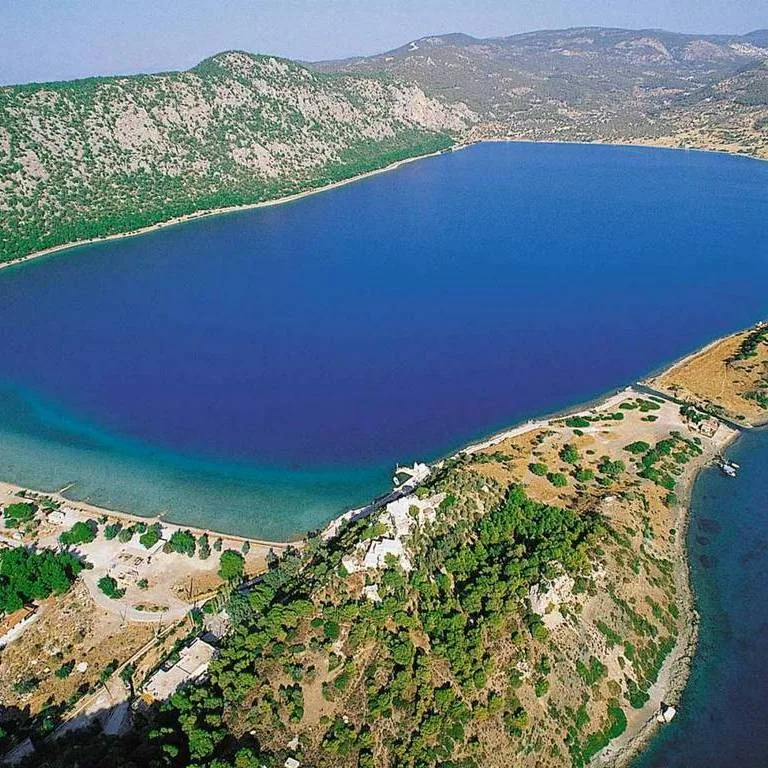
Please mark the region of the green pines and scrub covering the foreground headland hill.
MULTIPOLYGON (((614 421, 606 413, 587 423, 614 421)), ((73 736, 55 754, 41 746, 37 764, 98 765, 94 755, 109 753, 115 766, 275 768, 295 755, 316 768, 477 768, 487 762, 490 733, 510 759, 546 749, 555 764, 586 766, 624 730, 625 710, 647 701, 677 632, 671 563, 648 546, 657 531, 637 490, 654 481, 641 473, 674 478, 700 450, 673 434, 630 443, 625 463, 587 446, 561 443, 543 476, 552 483, 567 468, 591 492, 610 486, 612 498, 637 509, 636 522, 607 520, 593 503, 535 501, 515 483, 489 485, 476 472, 509 460, 497 452, 447 462, 419 489, 418 498, 439 503, 409 539, 409 569, 391 558, 377 572, 346 571, 344 557, 385 532, 376 518, 272 558, 247 592, 236 588, 242 554, 225 550, 219 567, 229 586, 201 616, 228 600, 232 632, 208 679, 158 704, 125 740, 73 736), (488 502, 472 501, 480 497, 488 502), (611 578, 598 585, 596 567, 611 578), (592 630, 602 647, 586 645, 587 635, 563 645, 580 627, 581 598, 561 608, 573 624, 556 638, 534 609, 535 590, 561 578, 584 599, 603 595, 592 630), (625 594, 624 584, 644 578, 652 588, 640 601, 625 594), (363 587, 374 584, 375 596, 366 597, 363 587), (619 655, 623 677, 609 674, 606 649, 619 655), (299 746, 288 749, 295 734, 299 746)), ((220 548, 177 533, 179 553, 220 548)), ((99 586, 120 596, 109 577, 99 586)))

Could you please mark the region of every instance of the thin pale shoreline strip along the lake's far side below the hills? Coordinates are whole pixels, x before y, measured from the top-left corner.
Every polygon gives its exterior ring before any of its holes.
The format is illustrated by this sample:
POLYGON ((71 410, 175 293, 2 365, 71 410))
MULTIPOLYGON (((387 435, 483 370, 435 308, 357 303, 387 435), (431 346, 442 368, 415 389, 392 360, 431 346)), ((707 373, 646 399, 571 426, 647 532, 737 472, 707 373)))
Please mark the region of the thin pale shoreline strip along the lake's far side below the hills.
POLYGON ((285 203, 296 202, 297 200, 301 200, 302 198, 309 197, 311 195, 317 195, 322 192, 329 192, 333 189, 338 189, 339 187, 346 186, 347 184, 353 184, 356 181, 363 181, 364 179, 370 178, 372 176, 376 176, 381 173, 388 173, 389 171, 395 171, 398 168, 404 165, 407 165, 408 163, 414 163, 414 162, 417 162, 418 160, 426 160, 431 157, 439 157, 440 155, 446 154, 446 153, 458 152, 460 150, 468 149, 469 147, 472 147, 478 144, 544 144, 544 145, 551 144, 553 146, 571 145, 571 146, 637 147, 637 148, 648 148, 648 149, 666 149, 674 152, 707 152, 707 153, 713 153, 718 155, 726 155, 728 157, 742 157, 747 160, 758 160, 761 162, 768 162, 768 158, 760 157, 758 155, 750 154, 747 152, 741 153, 741 152, 729 151, 727 149, 710 149, 706 147, 675 147, 675 146, 670 146, 668 144, 658 144, 653 142, 649 143, 644 141, 635 141, 635 142, 603 141, 603 140, 559 141, 556 139, 538 140, 538 139, 490 138, 490 137, 477 139, 477 140, 470 140, 470 141, 457 140, 455 143, 451 144, 445 149, 438 150, 436 152, 430 152, 426 155, 414 155, 413 157, 407 157, 407 158, 404 158, 403 160, 398 160, 397 162, 390 163, 389 165, 382 166, 381 168, 376 168, 375 170, 372 170, 372 171, 366 171, 365 173, 360 173, 355 176, 350 176, 349 178, 342 179, 341 181, 334 181, 331 184, 326 184, 321 187, 313 187, 311 189, 304 190, 303 192, 295 192, 292 195, 285 195, 284 197, 276 197, 270 200, 261 200, 256 203, 230 205, 224 208, 206 208, 200 211, 195 211, 193 213, 184 214, 183 216, 176 216, 172 219, 159 221, 156 224, 149 224, 148 226, 141 227, 140 229, 129 230, 127 232, 115 232, 114 234, 111 234, 111 235, 102 235, 99 237, 92 237, 88 240, 75 240, 73 242, 61 243, 60 245, 52 245, 50 248, 44 248, 41 251, 34 251, 32 253, 27 254, 26 256, 21 256, 19 258, 12 259, 10 261, 1 261, 0 270, 8 269, 9 267, 21 266, 23 264, 26 264, 27 262, 40 259, 44 256, 52 256, 56 253, 61 253, 63 251, 68 251, 74 248, 82 248, 88 245, 98 245, 99 243, 106 243, 112 240, 122 240, 124 238, 129 238, 129 237, 139 237, 140 235, 146 235, 151 232, 156 232, 161 229, 166 229, 168 227, 174 227, 180 224, 186 224, 188 222, 196 221, 198 219, 207 219, 214 216, 225 216, 230 213, 239 213, 241 211, 250 211, 257 208, 269 208, 275 205, 284 205, 285 203))

